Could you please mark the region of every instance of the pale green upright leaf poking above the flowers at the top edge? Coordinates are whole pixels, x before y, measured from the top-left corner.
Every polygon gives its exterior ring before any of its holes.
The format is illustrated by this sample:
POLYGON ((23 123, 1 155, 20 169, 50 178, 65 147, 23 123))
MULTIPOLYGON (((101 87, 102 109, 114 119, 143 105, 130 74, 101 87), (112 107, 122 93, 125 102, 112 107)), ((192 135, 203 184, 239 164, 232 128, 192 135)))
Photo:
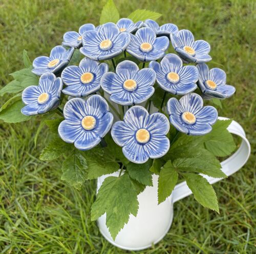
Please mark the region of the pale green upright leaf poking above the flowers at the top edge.
POLYGON ((113 0, 109 0, 106 2, 105 6, 102 9, 101 15, 100 15, 100 24, 104 24, 107 22, 113 22, 116 23, 119 20, 119 12, 115 6, 115 3, 113 0))

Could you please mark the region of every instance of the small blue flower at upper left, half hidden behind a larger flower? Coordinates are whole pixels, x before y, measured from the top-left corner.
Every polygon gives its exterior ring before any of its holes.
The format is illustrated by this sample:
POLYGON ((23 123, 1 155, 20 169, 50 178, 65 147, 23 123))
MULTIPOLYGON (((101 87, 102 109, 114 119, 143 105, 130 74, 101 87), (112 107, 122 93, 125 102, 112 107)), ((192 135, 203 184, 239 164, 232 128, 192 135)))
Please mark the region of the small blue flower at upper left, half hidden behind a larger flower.
POLYGON ((82 35, 84 32, 95 30, 94 24, 83 24, 78 33, 74 31, 67 32, 63 35, 63 46, 79 48, 82 45, 82 35))

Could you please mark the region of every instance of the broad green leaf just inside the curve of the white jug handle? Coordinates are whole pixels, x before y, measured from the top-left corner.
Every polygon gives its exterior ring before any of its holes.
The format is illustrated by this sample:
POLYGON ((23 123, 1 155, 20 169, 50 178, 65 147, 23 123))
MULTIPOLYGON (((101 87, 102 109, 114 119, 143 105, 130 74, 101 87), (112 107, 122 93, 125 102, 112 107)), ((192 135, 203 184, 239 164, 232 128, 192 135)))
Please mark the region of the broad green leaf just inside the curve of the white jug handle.
POLYGON ((206 149, 215 156, 225 157, 236 149, 233 137, 227 130, 231 121, 232 119, 218 120, 212 126, 212 131, 204 136, 206 149))

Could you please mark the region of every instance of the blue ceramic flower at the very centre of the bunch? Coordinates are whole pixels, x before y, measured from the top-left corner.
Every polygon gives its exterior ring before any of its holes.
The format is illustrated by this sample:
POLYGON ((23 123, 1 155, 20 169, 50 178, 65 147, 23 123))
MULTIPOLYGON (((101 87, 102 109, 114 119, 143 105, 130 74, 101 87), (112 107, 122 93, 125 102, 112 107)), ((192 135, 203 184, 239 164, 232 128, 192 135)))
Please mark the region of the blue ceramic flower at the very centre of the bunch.
POLYGON ((101 79, 102 89, 110 94, 110 100, 120 105, 140 104, 150 98, 155 89, 156 73, 150 68, 139 69, 132 61, 123 61, 116 73, 106 72, 101 79))

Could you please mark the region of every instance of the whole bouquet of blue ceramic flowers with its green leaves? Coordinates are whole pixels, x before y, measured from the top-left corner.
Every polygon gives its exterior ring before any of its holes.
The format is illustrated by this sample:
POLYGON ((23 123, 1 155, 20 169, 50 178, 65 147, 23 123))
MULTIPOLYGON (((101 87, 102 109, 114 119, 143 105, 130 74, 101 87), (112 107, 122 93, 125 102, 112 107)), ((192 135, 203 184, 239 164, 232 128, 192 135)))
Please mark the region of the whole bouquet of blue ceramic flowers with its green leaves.
POLYGON ((0 91, 17 93, 0 118, 39 115, 35 142, 45 124, 52 133, 40 159, 62 157, 62 180, 76 188, 120 170, 103 183, 92 207, 92 219, 115 216, 107 222, 113 237, 136 215, 137 195, 152 185, 153 173, 159 203, 181 177, 200 204, 218 211, 214 189, 200 173, 225 177, 217 157, 235 145, 226 130, 230 121, 217 121, 216 108, 203 106, 203 99, 228 98, 234 87, 223 70, 208 68, 210 45, 190 31, 159 26, 153 19, 160 15, 150 11, 121 19, 108 12, 117 10, 109 4, 100 26, 65 33, 62 46, 34 59, 33 67, 25 51, 27 68, 12 73, 15 80, 0 91))

